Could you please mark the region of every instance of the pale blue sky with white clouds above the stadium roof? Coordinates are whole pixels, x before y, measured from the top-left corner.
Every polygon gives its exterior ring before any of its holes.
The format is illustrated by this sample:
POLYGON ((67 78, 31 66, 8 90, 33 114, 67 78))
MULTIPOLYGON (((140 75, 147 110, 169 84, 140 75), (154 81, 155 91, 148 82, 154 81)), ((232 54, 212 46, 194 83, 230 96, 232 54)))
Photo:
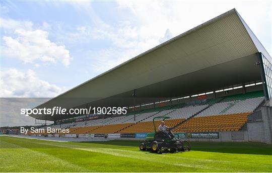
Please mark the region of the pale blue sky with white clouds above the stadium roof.
POLYGON ((1 97, 55 97, 233 8, 271 55, 271 1, 1 1, 1 97))

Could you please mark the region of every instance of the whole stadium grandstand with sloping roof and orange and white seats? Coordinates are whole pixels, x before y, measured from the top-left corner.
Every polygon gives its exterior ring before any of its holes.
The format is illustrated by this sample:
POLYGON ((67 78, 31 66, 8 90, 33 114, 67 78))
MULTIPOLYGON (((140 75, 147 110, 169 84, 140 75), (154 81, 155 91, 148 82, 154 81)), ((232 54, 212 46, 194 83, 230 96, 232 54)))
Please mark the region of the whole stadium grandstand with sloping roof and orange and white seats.
POLYGON ((73 137, 145 136, 163 116, 188 140, 271 143, 271 63, 233 9, 36 107, 127 107, 127 114, 30 116, 73 137), (217 137, 201 137, 210 133, 217 137))

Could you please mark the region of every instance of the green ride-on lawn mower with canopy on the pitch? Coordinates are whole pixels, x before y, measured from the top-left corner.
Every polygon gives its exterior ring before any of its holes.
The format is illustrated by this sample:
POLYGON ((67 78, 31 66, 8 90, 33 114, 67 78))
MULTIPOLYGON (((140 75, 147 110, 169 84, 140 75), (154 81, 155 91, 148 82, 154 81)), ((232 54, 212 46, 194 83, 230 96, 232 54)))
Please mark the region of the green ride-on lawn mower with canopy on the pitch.
POLYGON ((153 118, 154 132, 148 133, 145 141, 140 144, 140 150, 150 150, 162 154, 165 152, 190 151, 189 142, 181 141, 172 133, 171 128, 165 131, 156 131, 155 119, 168 119, 170 117, 155 117, 153 118))

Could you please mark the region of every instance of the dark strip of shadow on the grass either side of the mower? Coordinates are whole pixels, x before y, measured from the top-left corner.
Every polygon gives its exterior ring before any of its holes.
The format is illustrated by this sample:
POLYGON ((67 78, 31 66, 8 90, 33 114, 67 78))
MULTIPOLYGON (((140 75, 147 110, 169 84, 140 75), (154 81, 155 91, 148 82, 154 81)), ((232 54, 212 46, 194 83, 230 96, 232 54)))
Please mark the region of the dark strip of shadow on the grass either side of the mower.
MULTIPOLYGON (((140 141, 111 140, 96 142, 102 145, 139 147, 140 141)), ((258 142, 190 142, 192 151, 272 155, 272 145, 258 142)))

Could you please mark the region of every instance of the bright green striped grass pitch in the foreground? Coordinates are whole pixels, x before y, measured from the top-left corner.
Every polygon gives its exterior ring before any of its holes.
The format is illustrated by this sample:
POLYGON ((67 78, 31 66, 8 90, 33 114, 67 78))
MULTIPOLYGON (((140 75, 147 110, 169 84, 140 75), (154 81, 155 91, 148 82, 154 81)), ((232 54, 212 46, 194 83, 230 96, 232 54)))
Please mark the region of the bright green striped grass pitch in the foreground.
POLYGON ((139 141, 55 142, 0 136, 1 172, 271 172, 272 145, 191 142, 189 152, 156 154, 139 141))

